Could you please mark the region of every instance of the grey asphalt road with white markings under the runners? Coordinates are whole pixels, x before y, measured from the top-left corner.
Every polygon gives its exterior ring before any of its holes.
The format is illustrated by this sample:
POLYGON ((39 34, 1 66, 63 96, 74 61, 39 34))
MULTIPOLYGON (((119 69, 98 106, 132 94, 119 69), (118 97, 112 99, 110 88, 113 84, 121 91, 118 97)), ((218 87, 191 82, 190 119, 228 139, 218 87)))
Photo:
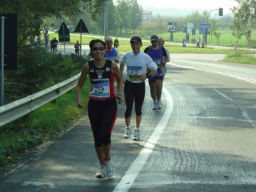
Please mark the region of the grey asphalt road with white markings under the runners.
POLYGON ((123 138, 125 104, 118 106, 111 179, 95 178, 84 115, 2 177, 0 191, 256 191, 256 67, 223 56, 171 55, 162 110, 152 110, 146 83, 140 141, 123 138))

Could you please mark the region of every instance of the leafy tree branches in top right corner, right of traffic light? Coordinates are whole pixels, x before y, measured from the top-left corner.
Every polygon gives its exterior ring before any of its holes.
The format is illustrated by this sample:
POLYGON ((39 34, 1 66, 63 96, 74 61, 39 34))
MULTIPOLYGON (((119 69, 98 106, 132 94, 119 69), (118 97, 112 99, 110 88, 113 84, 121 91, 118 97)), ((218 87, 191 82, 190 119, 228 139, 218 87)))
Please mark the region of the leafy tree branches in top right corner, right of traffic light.
POLYGON ((232 12, 235 19, 240 20, 241 24, 256 24, 256 0, 235 0, 239 6, 234 6, 232 12))

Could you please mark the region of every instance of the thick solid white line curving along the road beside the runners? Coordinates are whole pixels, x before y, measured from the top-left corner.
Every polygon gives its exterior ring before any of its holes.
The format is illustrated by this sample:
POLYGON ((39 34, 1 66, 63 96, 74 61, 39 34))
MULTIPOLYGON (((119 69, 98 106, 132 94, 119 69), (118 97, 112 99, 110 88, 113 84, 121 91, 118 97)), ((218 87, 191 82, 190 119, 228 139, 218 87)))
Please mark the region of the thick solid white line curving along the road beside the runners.
POLYGON ((166 124, 168 123, 168 120, 173 111, 173 100, 168 90, 166 90, 166 88, 164 87, 163 92, 167 101, 166 111, 164 112, 164 115, 159 121, 159 124, 157 125, 155 131, 152 133, 149 140, 147 141, 145 147, 143 148, 143 150, 141 150, 139 156, 135 159, 134 163, 132 163, 131 167, 125 173, 124 177, 116 186, 113 192, 125 192, 128 191, 129 188, 131 188, 132 183, 140 173, 141 168, 143 168, 144 164, 147 162, 148 157, 150 156, 152 150, 154 150, 157 141, 159 140, 162 132, 164 131, 164 128, 166 127, 166 124))

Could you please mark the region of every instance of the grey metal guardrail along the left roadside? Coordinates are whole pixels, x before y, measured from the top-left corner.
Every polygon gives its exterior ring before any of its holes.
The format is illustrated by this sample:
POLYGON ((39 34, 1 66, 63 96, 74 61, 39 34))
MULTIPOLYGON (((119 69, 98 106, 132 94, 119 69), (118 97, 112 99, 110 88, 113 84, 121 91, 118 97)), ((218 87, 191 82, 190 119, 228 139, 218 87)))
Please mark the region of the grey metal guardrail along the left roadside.
POLYGON ((10 104, 6 104, 0 107, 0 127, 8 124, 17 118, 20 118, 35 109, 44 106, 48 102, 60 97, 64 93, 67 93, 69 90, 74 88, 78 82, 80 74, 77 74, 74 77, 70 77, 66 81, 63 81, 59 84, 51 86, 41 92, 29 95, 23 99, 16 100, 10 104))

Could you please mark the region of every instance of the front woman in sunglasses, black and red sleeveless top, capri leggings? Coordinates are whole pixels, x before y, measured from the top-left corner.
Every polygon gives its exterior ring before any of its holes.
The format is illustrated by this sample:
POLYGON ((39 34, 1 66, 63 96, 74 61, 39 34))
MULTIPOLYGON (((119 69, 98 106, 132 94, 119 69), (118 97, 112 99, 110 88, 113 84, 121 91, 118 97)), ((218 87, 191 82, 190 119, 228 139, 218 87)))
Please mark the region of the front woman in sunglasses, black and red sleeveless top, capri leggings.
POLYGON ((87 76, 90 77, 91 92, 88 101, 88 117, 92 127, 95 150, 99 159, 99 170, 95 177, 103 178, 115 174, 115 168, 110 157, 111 132, 116 121, 117 102, 124 99, 121 95, 123 79, 116 63, 104 58, 106 44, 95 39, 89 44, 90 56, 93 60, 83 67, 76 86, 77 107, 83 108, 81 94, 87 76), (117 81, 117 95, 114 92, 114 81, 117 81))

